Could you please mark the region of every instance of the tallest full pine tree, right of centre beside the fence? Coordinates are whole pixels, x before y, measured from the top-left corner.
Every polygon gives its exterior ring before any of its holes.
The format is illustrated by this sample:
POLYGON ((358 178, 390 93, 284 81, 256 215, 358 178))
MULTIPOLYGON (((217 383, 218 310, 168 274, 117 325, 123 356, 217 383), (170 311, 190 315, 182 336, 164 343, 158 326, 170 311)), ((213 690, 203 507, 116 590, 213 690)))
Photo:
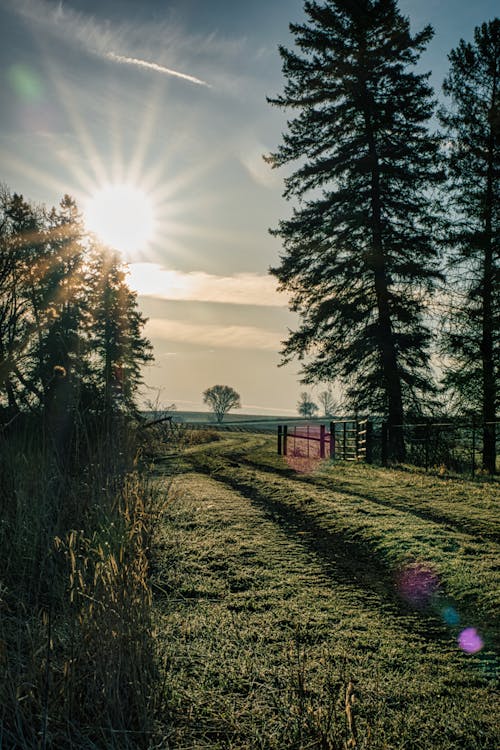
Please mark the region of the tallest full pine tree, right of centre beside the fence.
POLYGON ((298 112, 268 157, 296 163, 284 196, 298 205, 273 230, 285 252, 271 272, 301 318, 284 362, 298 356, 303 382, 341 378, 353 407, 386 414, 401 459, 405 410, 432 390, 423 316, 441 175, 428 76, 411 68, 433 32, 412 36, 395 0, 304 7, 297 51, 280 47, 284 93, 269 99, 298 112))

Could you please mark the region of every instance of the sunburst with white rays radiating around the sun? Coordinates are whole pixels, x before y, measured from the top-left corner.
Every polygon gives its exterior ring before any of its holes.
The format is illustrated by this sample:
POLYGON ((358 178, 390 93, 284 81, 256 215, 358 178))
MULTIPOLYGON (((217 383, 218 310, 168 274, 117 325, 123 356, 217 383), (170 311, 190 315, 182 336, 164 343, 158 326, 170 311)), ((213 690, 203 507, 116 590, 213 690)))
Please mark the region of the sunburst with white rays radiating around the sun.
MULTIPOLYGON (((199 191, 193 197, 194 187, 214 167, 217 157, 212 152, 206 161, 193 163, 185 148, 191 138, 189 122, 174 133, 165 124, 166 77, 138 70, 135 75, 143 79, 143 85, 139 82, 124 98, 114 83, 115 76, 123 74, 111 62, 95 89, 85 90, 75 85, 48 46, 43 46, 38 78, 47 101, 40 106, 48 106, 52 98, 58 114, 57 126, 39 135, 59 176, 54 179, 37 169, 38 160, 28 151, 25 159, 17 158, 16 172, 40 186, 49 184, 58 198, 71 194, 86 228, 118 250, 127 263, 173 259, 175 264, 175 259, 189 256, 189 217, 199 217, 199 202, 205 200, 199 191), (164 133, 164 140, 159 133, 164 133)), ((17 88, 19 99, 26 98, 24 89, 17 88)), ((31 114, 36 115, 33 108, 31 114)), ((199 222, 193 230, 199 231, 199 222)))

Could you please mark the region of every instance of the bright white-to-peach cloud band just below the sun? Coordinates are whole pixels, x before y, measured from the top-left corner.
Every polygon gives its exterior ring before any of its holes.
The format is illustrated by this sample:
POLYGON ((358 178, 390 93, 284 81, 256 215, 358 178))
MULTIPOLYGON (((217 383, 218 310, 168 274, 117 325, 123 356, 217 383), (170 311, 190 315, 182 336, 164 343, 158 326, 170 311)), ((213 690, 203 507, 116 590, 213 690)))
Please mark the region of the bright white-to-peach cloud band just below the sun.
POLYGON ((140 296, 166 300, 286 307, 270 276, 239 273, 215 276, 202 271, 168 271, 158 263, 131 263, 129 284, 140 296))

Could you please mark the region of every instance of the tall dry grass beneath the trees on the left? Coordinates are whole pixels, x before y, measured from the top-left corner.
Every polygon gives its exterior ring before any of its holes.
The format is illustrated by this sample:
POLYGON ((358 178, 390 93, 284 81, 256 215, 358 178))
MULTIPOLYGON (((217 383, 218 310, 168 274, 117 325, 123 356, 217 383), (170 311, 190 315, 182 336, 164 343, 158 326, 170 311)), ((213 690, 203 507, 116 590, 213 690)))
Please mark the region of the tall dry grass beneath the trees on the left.
POLYGON ((0 443, 0 747, 147 747, 166 493, 124 421, 80 425, 64 455, 36 422, 0 443))

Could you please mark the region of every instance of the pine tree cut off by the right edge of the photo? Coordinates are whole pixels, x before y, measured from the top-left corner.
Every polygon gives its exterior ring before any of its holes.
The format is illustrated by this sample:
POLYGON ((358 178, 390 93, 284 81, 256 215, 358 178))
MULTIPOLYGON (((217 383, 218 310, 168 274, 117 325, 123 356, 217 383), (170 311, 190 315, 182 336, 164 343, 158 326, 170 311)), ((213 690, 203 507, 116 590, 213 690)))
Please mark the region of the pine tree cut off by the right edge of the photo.
POLYGON ((449 55, 440 112, 448 195, 455 211, 449 257, 455 290, 445 383, 483 419, 483 467, 494 473, 500 386, 500 19, 477 27, 449 55))

